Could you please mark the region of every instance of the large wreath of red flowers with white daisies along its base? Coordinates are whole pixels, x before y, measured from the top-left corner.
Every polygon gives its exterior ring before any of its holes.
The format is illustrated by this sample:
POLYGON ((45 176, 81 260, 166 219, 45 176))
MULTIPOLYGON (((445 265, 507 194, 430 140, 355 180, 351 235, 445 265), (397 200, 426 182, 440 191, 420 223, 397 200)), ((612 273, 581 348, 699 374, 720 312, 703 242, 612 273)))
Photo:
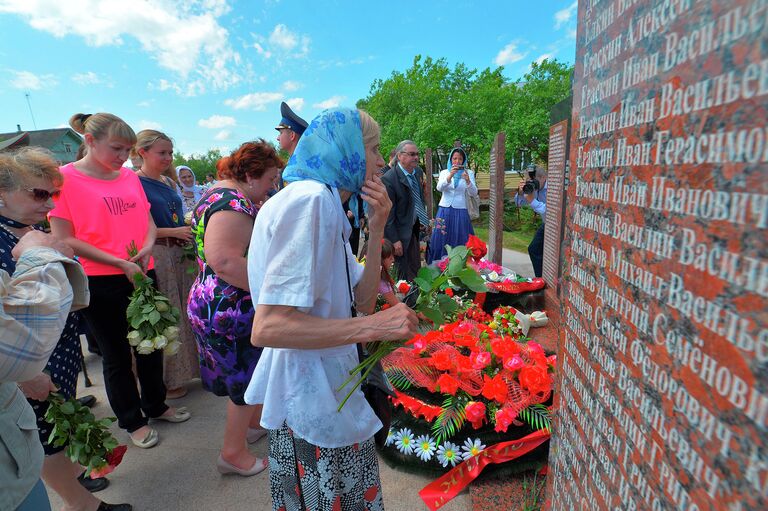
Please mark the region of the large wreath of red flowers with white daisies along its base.
MULTIPOLYGON (((382 454, 398 467, 446 472, 500 442, 550 428, 555 355, 522 334, 511 307, 477 305, 382 360, 396 389, 382 454)), ((504 464, 540 466, 548 446, 504 464)))

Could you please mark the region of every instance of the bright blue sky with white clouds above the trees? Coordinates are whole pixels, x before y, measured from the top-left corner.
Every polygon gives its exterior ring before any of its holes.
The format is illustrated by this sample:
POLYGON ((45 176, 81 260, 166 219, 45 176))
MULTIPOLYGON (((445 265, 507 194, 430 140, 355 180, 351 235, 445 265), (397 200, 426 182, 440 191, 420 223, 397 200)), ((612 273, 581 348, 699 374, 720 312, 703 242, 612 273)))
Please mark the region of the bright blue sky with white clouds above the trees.
POLYGON ((281 101, 307 121, 352 107, 416 55, 503 66, 511 80, 544 58, 572 64, 576 11, 573 0, 0 0, 0 133, 110 112, 162 130, 177 152, 227 152, 274 141, 281 101))

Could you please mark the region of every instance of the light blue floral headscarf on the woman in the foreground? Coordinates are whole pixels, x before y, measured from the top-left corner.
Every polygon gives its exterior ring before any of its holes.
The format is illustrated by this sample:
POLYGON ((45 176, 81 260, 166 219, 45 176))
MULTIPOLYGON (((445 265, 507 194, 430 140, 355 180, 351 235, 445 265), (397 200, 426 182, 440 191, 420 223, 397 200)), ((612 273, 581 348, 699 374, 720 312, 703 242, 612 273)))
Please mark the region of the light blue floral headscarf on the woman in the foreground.
POLYGON ((330 108, 312 119, 283 171, 283 180, 288 183, 305 179, 352 192, 349 209, 355 214, 355 225, 358 224, 359 194, 365 181, 365 147, 357 110, 330 108))

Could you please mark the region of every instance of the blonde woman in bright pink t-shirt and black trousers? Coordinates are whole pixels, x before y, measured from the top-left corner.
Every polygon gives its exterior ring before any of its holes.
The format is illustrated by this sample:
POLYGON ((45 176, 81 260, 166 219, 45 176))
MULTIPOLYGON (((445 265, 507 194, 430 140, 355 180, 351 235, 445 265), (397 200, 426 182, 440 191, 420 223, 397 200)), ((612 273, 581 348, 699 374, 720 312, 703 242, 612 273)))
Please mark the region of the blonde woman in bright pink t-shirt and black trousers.
POLYGON ((84 135, 88 151, 82 160, 61 168, 64 185, 51 211, 51 231, 69 244, 88 275, 91 303, 84 318, 103 357, 104 383, 118 425, 138 447, 157 444, 150 418, 182 422, 183 409, 165 404, 163 353, 136 353, 131 368, 126 308, 133 292, 132 277, 142 268, 155 277, 151 258, 156 228, 139 178, 123 162, 136 143, 136 134, 112 114, 75 114, 72 129, 84 135), (135 243, 139 252, 128 256, 135 243))

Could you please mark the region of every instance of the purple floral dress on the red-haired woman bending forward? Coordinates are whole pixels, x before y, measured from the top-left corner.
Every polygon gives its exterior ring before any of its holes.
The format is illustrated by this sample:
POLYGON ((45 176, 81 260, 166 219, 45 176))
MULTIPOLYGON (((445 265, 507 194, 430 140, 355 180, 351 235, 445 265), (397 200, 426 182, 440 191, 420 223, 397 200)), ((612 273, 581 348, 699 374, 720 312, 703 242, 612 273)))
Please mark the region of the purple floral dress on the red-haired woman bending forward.
POLYGON ((217 396, 229 396, 237 405, 245 405, 243 393, 261 348, 251 345, 250 292, 217 276, 205 260, 205 227, 218 211, 237 211, 255 218, 258 210, 231 188, 210 189, 200 198, 192 217, 200 272, 189 291, 187 314, 197 341, 203 387, 217 396))

